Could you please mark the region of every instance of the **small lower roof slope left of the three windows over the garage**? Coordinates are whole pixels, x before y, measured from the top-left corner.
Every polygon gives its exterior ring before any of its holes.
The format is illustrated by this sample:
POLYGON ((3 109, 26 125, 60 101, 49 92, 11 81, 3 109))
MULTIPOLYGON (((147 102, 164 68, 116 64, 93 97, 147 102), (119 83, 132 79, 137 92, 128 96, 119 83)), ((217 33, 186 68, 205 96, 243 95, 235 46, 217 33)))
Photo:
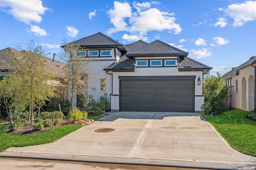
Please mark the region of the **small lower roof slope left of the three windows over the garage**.
POLYGON ((134 71, 134 60, 123 55, 117 63, 113 63, 104 70, 108 71, 134 71))

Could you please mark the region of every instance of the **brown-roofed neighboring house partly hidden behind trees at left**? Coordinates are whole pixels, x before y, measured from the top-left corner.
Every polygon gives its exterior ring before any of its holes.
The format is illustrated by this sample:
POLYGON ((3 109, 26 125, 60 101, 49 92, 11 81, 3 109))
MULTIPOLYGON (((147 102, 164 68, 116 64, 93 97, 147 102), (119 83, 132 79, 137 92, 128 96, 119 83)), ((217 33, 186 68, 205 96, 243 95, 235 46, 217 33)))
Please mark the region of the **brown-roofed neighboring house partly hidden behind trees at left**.
MULTIPOLYGON (((12 49, 10 47, 6 49, 0 50, 0 80, 3 80, 4 76, 7 76, 10 72, 10 67, 12 67, 12 63, 10 61, 10 51, 16 51, 15 49, 12 49)), ((23 50, 24 51, 24 50, 23 50)), ((20 51, 22 53, 23 51, 20 51)), ((55 86, 58 97, 54 97, 55 102, 60 102, 67 100, 68 98, 68 84, 63 82, 61 69, 64 68, 66 65, 65 63, 62 63, 60 61, 55 61, 53 59, 49 59, 47 57, 44 57, 46 64, 49 66, 49 69, 52 70, 54 77, 56 80, 51 80, 51 83, 55 86)))

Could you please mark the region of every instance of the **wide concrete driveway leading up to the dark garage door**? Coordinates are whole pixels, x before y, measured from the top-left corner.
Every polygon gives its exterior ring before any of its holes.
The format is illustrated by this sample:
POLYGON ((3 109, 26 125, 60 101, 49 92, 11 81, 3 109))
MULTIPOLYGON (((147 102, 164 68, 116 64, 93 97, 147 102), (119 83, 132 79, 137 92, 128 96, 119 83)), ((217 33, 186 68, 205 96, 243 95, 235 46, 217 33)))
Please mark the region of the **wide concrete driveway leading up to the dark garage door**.
POLYGON ((256 169, 256 157, 232 149, 197 113, 116 112, 45 145, 15 147, 3 157, 256 169), (98 133, 94 130, 114 129, 98 133))

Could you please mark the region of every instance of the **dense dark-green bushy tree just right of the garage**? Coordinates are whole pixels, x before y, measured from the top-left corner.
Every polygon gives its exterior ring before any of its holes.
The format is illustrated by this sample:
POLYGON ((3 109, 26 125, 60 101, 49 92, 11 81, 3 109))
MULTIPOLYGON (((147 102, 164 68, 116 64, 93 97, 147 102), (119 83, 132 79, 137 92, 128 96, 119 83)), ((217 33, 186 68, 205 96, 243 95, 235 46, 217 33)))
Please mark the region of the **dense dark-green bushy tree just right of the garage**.
POLYGON ((210 72, 204 75, 203 94, 205 104, 203 108, 210 107, 210 112, 214 114, 223 113, 226 110, 225 102, 228 98, 228 88, 225 83, 225 78, 219 72, 217 72, 217 77, 210 75, 210 72))

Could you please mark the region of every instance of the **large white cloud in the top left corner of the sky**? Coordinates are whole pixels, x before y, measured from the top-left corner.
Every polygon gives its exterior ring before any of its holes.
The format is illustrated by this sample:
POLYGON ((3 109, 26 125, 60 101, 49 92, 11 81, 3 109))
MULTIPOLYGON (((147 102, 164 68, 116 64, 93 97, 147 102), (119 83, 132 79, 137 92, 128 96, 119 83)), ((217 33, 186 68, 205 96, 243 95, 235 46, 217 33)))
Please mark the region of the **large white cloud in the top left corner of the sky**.
POLYGON ((2 11, 8 12, 15 20, 26 24, 31 22, 40 23, 48 8, 42 5, 41 0, 1 0, 2 11))

